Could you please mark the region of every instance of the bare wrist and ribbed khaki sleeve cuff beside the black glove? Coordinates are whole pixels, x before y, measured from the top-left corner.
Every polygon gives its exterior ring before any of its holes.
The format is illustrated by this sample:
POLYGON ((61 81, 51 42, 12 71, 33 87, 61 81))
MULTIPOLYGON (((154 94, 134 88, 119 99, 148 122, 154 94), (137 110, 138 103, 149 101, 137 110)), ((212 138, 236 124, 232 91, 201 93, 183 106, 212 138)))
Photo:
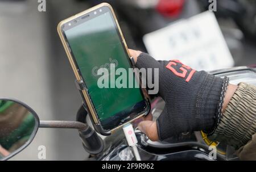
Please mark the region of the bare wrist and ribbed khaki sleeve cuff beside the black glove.
POLYGON ((246 83, 230 85, 223 107, 221 122, 210 139, 238 149, 256 132, 256 87, 246 83))

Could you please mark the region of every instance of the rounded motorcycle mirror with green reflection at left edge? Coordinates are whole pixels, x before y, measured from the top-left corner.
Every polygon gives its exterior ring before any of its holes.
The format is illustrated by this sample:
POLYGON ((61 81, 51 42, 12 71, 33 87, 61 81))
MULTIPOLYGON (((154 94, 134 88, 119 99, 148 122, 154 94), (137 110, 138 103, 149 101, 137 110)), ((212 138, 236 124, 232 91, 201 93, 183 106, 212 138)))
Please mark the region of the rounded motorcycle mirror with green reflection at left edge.
POLYGON ((0 98, 0 160, 8 160, 25 149, 38 128, 38 115, 27 104, 0 98))

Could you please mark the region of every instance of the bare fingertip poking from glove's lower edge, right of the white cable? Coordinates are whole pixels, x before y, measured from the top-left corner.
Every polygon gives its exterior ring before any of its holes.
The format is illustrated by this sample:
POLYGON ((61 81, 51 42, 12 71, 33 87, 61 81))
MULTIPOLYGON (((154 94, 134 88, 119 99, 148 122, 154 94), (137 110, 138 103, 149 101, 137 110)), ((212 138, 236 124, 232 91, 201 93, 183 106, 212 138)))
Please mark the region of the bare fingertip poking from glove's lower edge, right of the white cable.
POLYGON ((147 135, 152 141, 158 141, 158 129, 156 128, 156 121, 142 121, 138 125, 139 130, 147 135))

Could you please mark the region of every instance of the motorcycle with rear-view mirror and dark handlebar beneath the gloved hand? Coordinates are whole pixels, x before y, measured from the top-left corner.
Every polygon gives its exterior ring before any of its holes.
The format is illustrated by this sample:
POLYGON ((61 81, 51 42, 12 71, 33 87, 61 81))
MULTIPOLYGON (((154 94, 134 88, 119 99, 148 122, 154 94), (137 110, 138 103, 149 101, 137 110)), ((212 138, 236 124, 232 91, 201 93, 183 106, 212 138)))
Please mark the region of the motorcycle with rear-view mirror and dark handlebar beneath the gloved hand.
MULTIPOLYGON (((210 72, 217 77, 227 76, 230 82, 247 82, 256 85, 256 66, 236 67, 210 72)), ((164 101, 156 98, 151 102, 151 113, 158 118, 164 107, 164 101)), ((98 135, 86 118, 85 106, 77 112, 76 121, 44 121, 27 104, 11 98, 0 98, 0 160, 8 160, 25 149, 34 139, 39 128, 77 129, 88 160, 120 161, 135 160, 133 152, 127 146, 122 129, 110 136, 98 135)), ((203 132, 185 132, 164 141, 151 141, 138 129, 138 150, 142 160, 239 160, 231 146, 208 139, 203 132), (216 146, 216 158, 209 156, 210 145, 216 146)))

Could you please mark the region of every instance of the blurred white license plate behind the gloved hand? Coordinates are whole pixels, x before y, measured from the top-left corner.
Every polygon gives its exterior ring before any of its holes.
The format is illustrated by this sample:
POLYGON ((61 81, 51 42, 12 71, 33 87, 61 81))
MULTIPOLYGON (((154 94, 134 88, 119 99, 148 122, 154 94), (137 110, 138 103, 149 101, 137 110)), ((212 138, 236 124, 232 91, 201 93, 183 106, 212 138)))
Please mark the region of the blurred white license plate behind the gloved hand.
POLYGON ((156 60, 178 59, 196 70, 234 65, 213 12, 203 12, 148 33, 143 41, 156 60))

